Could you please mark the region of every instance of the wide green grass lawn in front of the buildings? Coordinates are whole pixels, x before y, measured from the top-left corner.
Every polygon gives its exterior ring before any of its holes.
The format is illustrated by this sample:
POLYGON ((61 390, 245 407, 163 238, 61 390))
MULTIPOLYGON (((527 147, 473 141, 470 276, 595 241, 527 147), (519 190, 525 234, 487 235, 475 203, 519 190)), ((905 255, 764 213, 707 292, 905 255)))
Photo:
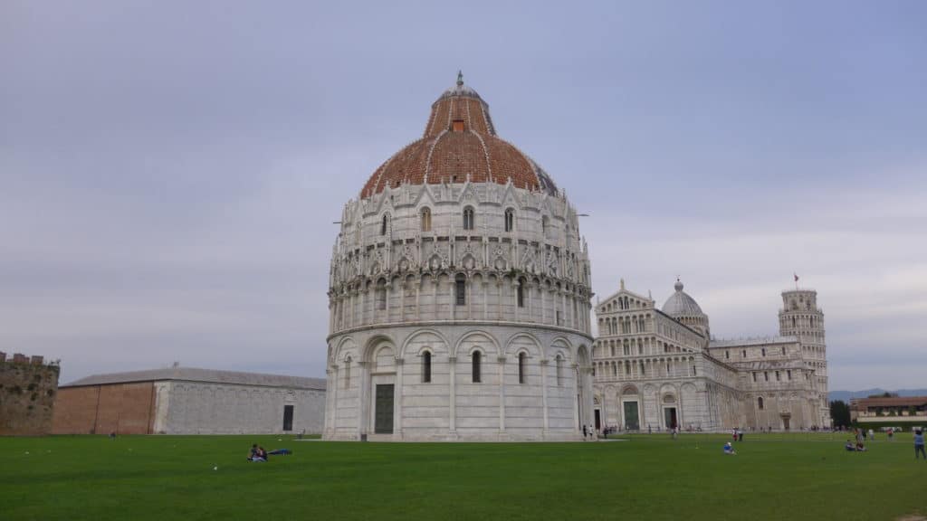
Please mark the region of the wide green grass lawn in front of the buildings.
POLYGON ((909 434, 598 443, 0 438, 0 519, 895 519, 927 515, 909 434), (292 456, 250 464, 252 442, 292 456), (213 467, 218 465, 218 470, 213 467))

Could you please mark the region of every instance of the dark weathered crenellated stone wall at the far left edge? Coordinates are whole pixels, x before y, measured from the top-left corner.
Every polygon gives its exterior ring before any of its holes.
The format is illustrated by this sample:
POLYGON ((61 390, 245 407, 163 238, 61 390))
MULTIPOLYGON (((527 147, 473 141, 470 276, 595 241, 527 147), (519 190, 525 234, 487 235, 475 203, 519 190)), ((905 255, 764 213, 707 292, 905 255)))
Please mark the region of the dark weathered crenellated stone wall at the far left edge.
POLYGON ((0 436, 51 432, 59 368, 17 353, 0 353, 0 436))

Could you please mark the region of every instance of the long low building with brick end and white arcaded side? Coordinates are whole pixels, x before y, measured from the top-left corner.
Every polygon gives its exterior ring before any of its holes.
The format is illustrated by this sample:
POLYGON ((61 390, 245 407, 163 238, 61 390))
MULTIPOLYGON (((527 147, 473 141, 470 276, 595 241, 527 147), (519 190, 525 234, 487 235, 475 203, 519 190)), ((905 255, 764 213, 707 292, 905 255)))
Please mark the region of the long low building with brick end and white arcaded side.
POLYGON ((325 380, 171 367, 58 388, 53 434, 320 433, 325 380))

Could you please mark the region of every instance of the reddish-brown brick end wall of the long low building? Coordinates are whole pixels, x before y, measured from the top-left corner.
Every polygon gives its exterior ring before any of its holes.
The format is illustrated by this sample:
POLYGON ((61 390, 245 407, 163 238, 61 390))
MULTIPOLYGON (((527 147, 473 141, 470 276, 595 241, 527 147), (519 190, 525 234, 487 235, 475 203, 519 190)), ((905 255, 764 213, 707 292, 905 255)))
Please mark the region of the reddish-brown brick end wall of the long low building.
POLYGON ((154 383, 61 388, 53 434, 151 434, 154 383))

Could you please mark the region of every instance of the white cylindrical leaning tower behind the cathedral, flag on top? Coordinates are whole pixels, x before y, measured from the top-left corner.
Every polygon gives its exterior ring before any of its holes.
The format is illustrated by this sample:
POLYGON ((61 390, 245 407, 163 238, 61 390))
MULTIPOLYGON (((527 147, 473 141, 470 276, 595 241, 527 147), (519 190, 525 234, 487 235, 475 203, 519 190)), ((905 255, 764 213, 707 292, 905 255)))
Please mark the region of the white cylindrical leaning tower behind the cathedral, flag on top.
POLYGON ((827 400, 824 311, 818 307, 817 291, 796 288, 782 292, 779 331, 781 336, 797 337, 801 343, 802 360, 806 369, 814 370, 815 387, 820 394, 819 426, 831 426, 831 411, 827 400))

